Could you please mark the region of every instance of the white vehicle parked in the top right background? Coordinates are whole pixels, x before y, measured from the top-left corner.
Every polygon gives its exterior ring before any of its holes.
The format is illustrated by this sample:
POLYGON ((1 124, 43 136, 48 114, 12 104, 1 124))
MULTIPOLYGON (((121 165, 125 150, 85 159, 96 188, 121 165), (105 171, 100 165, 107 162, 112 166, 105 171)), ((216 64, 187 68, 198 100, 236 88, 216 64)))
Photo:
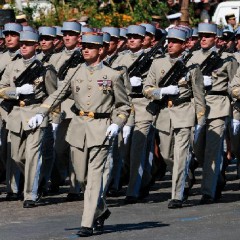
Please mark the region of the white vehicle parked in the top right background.
POLYGON ((240 1, 226 1, 218 4, 212 21, 218 25, 227 25, 225 16, 234 13, 236 17, 236 24, 239 24, 240 16, 240 1))

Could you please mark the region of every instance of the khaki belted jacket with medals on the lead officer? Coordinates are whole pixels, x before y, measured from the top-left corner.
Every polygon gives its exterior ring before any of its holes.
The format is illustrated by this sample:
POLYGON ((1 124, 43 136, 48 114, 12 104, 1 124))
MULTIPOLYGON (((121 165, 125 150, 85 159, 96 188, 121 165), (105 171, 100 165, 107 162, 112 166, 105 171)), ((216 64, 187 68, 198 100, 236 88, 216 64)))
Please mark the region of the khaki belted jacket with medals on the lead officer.
POLYGON ((46 99, 39 111, 45 113, 53 103, 53 106, 58 105, 70 94, 81 111, 111 113, 111 119, 74 115, 66 136, 72 146, 89 148, 101 145, 110 123, 121 127, 128 118, 130 105, 121 74, 102 62, 95 67, 84 63, 71 69, 62 85, 46 99))

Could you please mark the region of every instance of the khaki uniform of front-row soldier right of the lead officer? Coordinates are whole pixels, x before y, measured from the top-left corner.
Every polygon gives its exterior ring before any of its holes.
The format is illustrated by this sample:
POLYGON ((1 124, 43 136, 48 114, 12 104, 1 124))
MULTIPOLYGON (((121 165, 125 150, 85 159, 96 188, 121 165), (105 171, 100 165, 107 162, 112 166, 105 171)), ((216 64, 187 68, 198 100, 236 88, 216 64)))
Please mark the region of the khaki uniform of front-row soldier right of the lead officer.
MULTIPOLYGON (((154 60, 144 83, 143 93, 147 98, 155 100, 152 91, 159 86, 164 87, 161 80, 174 63, 175 60, 169 56, 154 60)), ((195 125, 195 119, 199 125, 203 125, 205 120, 203 78, 199 66, 188 63, 187 67, 185 76, 178 82, 179 95, 169 95, 160 100, 160 112, 155 123, 159 131, 160 153, 166 161, 171 158, 174 141, 172 199, 177 200, 183 198, 190 160, 191 127, 195 125)))

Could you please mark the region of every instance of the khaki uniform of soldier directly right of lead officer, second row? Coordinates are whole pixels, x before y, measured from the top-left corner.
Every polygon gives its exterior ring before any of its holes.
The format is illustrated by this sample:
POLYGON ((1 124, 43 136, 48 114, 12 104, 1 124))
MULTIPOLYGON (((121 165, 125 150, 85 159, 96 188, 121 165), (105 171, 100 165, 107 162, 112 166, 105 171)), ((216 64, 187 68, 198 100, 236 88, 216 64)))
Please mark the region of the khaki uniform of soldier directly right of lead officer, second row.
MULTIPOLYGON (((130 67, 141 53, 142 51, 137 53, 128 51, 128 53, 120 55, 112 66, 130 67)), ((141 77, 143 82, 146 76, 147 72, 141 77)), ((140 88, 131 87, 130 97, 132 98, 134 115, 130 116, 126 125, 134 125, 134 129, 131 140, 129 139, 131 141, 130 178, 126 195, 137 198, 141 195, 140 191, 148 188, 151 181, 151 166, 149 165, 151 165, 152 159, 149 159, 151 154, 147 151, 150 149, 147 143, 151 142, 148 137, 153 139, 149 135, 153 116, 146 111, 149 100, 142 95, 142 86, 140 88)))

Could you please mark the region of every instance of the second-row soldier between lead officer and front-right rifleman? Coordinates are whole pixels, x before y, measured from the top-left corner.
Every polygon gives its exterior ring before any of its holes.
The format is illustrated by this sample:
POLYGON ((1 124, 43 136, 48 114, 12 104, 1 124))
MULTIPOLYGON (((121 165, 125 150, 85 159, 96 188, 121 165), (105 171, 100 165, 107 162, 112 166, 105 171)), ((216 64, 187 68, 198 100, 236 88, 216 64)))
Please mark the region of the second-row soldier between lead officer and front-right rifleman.
MULTIPOLYGON (((120 55, 113 64, 115 66, 130 67, 137 58, 143 54, 143 42, 146 28, 141 25, 128 26, 128 48, 129 52, 120 55)), ((145 66, 144 66, 145 67, 145 66)), ((142 86, 147 76, 148 69, 143 70, 141 76, 131 76, 130 97, 132 98, 133 114, 123 128, 123 141, 125 144, 131 142, 130 146, 130 178, 126 193, 125 203, 136 203, 149 194, 149 183, 151 174, 148 153, 150 128, 153 116, 146 112, 149 100, 142 94, 142 86), (134 126, 134 128, 133 128, 134 126), (132 132, 133 130, 133 132, 132 132), (129 138, 132 132, 131 139, 129 138), (148 139, 149 137, 149 139, 148 139)))

